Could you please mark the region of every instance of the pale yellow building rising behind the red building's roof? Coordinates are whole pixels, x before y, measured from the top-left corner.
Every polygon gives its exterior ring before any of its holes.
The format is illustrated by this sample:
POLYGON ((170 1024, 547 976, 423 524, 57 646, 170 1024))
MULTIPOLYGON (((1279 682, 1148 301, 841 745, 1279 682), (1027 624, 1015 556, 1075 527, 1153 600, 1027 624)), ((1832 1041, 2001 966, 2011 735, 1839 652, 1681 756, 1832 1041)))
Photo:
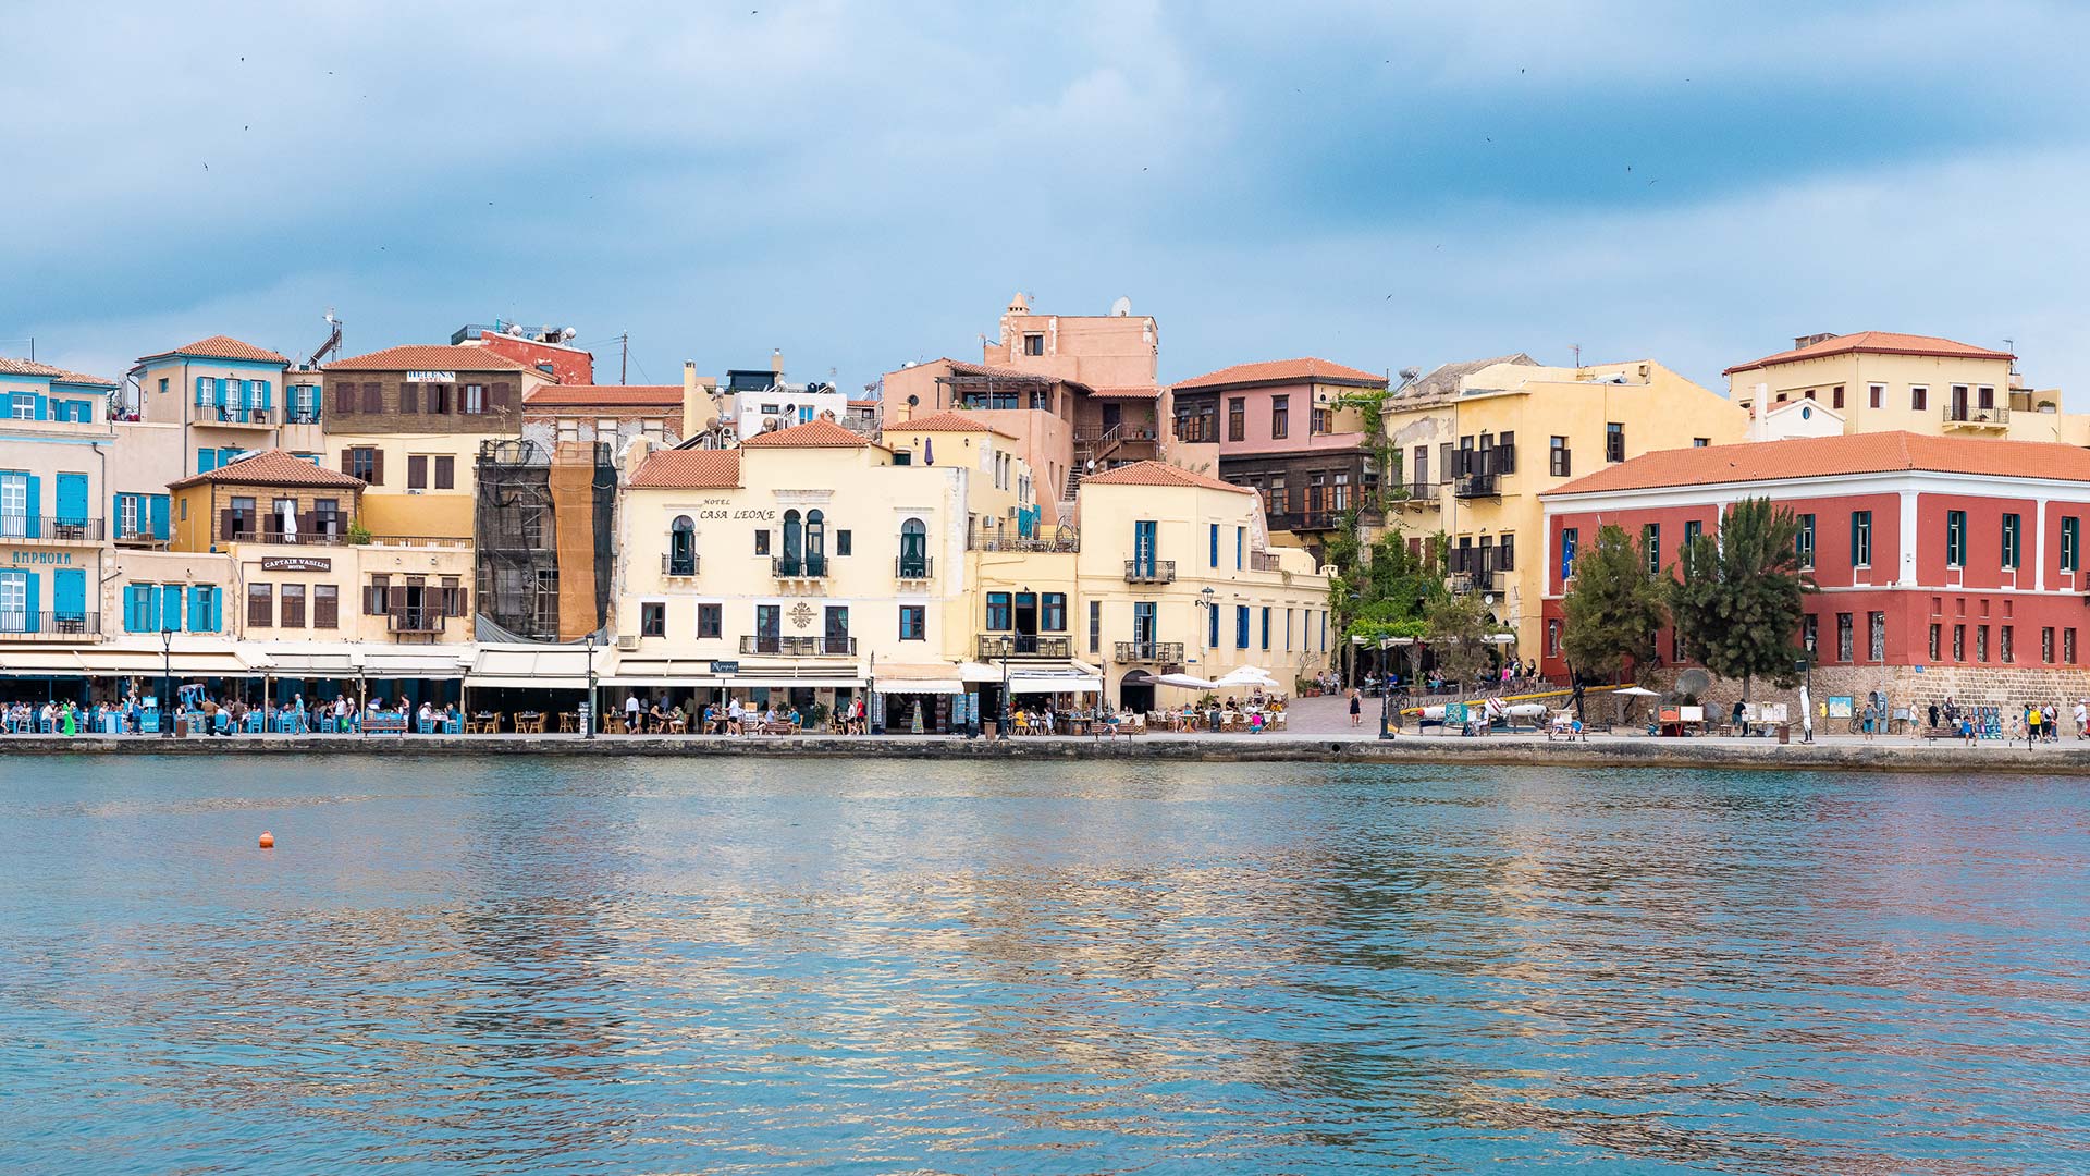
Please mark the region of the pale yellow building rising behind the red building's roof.
MULTIPOLYGON (((1812 400, 1845 433, 1927 433, 2090 446, 2090 416, 2059 389, 2025 387, 2017 356, 1933 335, 1802 335, 1789 352, 1726 368, 1728 400, 1758 416, 1812 400)), ((1766 439, 1785 433, 1760 425, 1766 439)))

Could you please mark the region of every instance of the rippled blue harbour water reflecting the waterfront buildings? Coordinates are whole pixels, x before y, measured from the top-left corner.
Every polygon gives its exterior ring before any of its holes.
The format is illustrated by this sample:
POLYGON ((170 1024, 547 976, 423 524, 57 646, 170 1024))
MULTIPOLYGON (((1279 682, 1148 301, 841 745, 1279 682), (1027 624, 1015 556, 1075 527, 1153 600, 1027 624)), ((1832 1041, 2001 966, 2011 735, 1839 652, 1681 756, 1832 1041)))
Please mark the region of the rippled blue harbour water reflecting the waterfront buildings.
POLYGON ((2077 781, 4 757, 0 1170, 2084 1172, 2086 881, 2077 781))

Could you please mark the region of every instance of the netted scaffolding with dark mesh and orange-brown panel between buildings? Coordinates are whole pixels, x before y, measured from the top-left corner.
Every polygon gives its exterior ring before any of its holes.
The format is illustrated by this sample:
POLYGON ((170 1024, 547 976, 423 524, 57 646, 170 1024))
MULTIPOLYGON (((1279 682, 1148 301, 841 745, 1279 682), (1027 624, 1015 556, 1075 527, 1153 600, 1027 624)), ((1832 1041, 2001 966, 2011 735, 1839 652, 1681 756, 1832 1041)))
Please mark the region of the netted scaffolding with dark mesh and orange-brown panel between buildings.
POLYGON ((479 617, 527 640, 608 619, 617 467, 602 442, 481 442, 472 534, 479 617))

